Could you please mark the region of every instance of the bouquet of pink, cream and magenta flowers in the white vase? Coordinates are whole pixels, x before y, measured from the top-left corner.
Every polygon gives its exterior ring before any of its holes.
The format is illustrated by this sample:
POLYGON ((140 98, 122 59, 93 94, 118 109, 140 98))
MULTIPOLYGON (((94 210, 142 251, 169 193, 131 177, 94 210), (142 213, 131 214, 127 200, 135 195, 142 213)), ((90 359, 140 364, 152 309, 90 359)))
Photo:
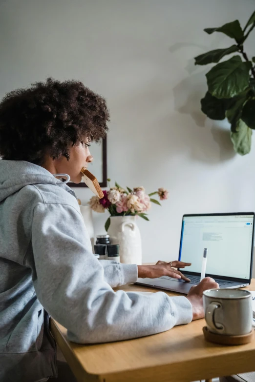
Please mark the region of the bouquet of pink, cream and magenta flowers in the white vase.
MULTIPOLYGON (((110 182, 110 179, 107 180, 110 182)), ((156 199, 152 199, 153 195, 157 195, 159 199, 168 199, 169 192, 165 188, 159 188, 158 191, 146 194, 144 187, 135 187, 133 189, 127 187, 127 190, 122 188, 117 182, 115 187, 110 187, 108 191, 103 191, 104 198, 99 199, 93 196, 88 204, 93 211, 105 212, 108 210, 110 216, 134 216, 138 215, 141 218, 148 220, 147 211, 151 206, 151 202, 160 204, 156 199)), ((108 231, 110 226, 110 218, 107 219, 105 229, 108 231)))

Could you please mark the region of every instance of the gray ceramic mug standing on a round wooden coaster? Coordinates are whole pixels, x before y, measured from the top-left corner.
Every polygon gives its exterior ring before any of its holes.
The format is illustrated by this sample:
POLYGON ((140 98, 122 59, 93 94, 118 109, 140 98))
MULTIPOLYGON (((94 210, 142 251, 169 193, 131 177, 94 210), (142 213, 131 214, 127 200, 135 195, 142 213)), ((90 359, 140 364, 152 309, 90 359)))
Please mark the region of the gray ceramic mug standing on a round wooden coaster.
POLYGON ((209 289, 203 292, 208 330, 239 336, 252 331, 252 295, 242 289, 209 289))

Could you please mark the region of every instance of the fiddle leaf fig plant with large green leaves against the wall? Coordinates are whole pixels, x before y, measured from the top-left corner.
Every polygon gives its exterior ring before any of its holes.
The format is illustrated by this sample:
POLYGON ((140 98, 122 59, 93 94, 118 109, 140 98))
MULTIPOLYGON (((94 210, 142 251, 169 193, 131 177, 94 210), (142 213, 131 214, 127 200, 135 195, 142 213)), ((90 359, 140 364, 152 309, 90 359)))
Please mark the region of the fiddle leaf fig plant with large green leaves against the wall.
POLYGON ((255 129, 255 57, 249 60, 244 52, 244 42, 254 28, 255 11, 243 29, 238 20, 219 28, 206 28, 209 35, 224 33, 234 44, 195 57, 195 65, 216 63, 206 74, 208 91, 201 100, 201 110, 211 120, 228 119, 234 150, 240 155, 250 152, 255 129), (234 56, 219 62, 230 54, 234 56))

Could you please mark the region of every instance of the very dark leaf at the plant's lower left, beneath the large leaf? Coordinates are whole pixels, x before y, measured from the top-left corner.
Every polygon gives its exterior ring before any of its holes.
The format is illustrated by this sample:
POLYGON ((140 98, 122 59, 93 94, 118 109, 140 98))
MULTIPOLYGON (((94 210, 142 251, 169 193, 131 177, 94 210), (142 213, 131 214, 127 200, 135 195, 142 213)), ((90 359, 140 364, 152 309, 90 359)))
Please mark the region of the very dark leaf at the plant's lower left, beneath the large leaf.
POLYGON ((229 101, 229 99, 219 100, 207 92, 201 100, 201 110, 211 120, 224 120, 229 101))

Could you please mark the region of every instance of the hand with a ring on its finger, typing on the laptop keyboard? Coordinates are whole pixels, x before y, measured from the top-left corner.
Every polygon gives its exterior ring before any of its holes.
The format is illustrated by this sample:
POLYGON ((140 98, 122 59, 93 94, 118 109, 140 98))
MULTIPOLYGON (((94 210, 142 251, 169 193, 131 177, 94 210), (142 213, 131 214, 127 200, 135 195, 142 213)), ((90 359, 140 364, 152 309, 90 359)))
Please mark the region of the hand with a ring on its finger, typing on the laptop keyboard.
POLYGON ((185 268, 190 265, 190 262, 182 261, 158 261, 156 265, 138 265, 138 277, 142 279, 156 279, 161 276, 169 276, 174 279, 183 279, 189 282, 190 279, 188 279, 188 277, 184 276, 180 271, 173 269, 173 267, 185 268))

